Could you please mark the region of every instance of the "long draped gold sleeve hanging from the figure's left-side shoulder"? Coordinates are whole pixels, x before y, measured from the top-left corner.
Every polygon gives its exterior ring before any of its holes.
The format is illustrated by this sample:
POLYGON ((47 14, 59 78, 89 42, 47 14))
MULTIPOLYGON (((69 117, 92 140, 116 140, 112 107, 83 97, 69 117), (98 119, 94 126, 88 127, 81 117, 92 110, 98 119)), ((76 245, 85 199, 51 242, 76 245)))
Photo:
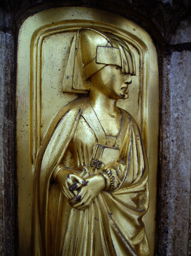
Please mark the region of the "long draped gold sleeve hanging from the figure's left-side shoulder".
POLYGON ((45 244, 47 230, 47 202, 49 200, 50 179, 54 170, 57 170, 57 167, 59 168, 60 159, 75 133, 83 104, 84 99, 76 100, 70 102, 58 112, 37 154, 32 217, 34 255, 44 255, 42 247, 45 244))

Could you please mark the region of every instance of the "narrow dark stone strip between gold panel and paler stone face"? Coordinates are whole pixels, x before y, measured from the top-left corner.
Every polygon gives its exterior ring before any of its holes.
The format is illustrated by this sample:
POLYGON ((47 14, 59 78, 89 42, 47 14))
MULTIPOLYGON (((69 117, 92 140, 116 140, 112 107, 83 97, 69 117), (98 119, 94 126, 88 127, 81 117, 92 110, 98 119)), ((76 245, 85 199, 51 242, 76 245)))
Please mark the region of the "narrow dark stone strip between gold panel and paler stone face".
POLYGON ((157 255, 167 255, 169 223, 169 173, 170 173, 170 57, 164 56, 162 63, 162 109, 161 109, 161 153, 160 153, 160 195, 157 211, 158 230, 156 239, 157 255))

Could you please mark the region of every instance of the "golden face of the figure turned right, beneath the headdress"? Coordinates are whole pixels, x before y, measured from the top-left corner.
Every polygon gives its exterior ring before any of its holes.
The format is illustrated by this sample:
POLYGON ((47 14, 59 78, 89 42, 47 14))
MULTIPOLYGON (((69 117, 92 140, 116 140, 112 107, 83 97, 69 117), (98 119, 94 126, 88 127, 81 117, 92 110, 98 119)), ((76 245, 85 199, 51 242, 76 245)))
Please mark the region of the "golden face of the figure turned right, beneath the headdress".
POLYGON ((123 99, 128 94, 131 74, 121 73, 119 66, 108 65, 90 78, 95 88, 112 99, 123 99))

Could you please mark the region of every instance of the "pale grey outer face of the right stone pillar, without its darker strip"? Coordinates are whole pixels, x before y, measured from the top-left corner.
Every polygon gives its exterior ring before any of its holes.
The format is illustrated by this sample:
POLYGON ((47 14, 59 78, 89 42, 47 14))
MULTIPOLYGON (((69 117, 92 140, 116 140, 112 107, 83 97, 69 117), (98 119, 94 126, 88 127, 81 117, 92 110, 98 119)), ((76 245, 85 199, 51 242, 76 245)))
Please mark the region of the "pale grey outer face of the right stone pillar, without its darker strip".
POLYGON ((191 178, 191 52, 174 52, 170 69, 171 154, 168 255, 186 255, 191 178), (181 235, 181 243, 180 241, 181 235))

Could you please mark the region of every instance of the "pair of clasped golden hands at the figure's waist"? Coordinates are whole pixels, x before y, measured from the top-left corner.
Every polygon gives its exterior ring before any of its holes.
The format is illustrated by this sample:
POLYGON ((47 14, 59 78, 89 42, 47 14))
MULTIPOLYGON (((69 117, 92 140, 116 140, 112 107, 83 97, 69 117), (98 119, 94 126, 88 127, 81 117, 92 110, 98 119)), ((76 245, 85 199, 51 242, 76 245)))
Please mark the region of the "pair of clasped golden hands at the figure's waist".
POLYGON ((105 188, 105 180, 102 175, 92 175, 85 179, 81 178, 76 172, 72 170, 62 169, 57 174, 57 182, 65 195, 68 202, 78 210, 85 210, 88 208, 99 193, 105 188), (76 184, 81 184, 79 192, 74 190, 71 192, 69 187, 76 184))

